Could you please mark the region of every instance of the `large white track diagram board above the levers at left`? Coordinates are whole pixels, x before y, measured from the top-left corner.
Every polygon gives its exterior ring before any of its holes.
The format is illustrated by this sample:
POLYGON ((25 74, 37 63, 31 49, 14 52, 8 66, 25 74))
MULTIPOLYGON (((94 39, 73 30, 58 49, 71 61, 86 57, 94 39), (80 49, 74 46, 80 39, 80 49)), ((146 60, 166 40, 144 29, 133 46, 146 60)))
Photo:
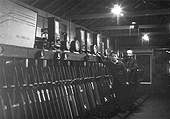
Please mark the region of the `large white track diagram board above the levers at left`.
POLYGON ((0 0, 0 43, 34 47, 37 13, 9 0, 0 0))

